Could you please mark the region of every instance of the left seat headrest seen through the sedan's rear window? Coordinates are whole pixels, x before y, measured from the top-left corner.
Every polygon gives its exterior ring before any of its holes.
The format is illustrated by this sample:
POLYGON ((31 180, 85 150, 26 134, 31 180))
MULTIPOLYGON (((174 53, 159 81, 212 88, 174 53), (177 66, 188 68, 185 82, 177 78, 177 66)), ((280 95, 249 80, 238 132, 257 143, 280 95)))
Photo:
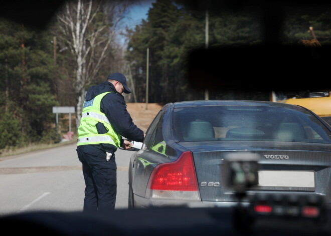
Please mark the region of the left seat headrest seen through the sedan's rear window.
POLYGON ((188 125, 187 140, 213 140, 215 131, 208 121, 191 121, 188 125))

